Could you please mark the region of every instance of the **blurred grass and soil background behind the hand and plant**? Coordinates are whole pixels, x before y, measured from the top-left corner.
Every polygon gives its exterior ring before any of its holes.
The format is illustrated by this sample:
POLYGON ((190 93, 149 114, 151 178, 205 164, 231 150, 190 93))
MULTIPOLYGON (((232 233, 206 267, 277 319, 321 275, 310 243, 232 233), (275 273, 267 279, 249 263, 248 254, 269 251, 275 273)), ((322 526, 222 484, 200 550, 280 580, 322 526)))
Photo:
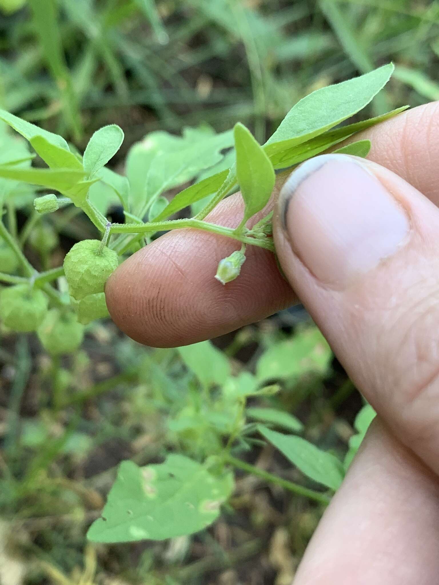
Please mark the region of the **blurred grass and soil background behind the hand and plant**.
MULTIPOLYGON (((427 0, 0 0, 0 106, 80 150, 118 123, 123 170, 129 146, 157 129, 242 121, 264 142, 308 92, 390 60, 396 73, 362 116, 439 99, 438 26, 439 2, 427 0)), ((92 236, 81 218, 56 227, 54 265, 75 233, 92 236)), ((300 354, 306 319, 286 311, 215 345, 232 370, 252 372, 291 336, 300 354)), ((361 408, 352 384, 334 360, 293 373, 290 361, 273 372, 276 407, 311 441, 346 450, 361 408)), ((193 390, 176 350, 147 350, 101 322, 56 367, 35 339, 2 337, 0 367, 2 585, 290 583, 320 511, 245 475, 221 521, 193 538, 85 543, 122 459, 155 462, 207 440, 201 427, 187 440, 166 426, 193 390)), ((245 456, 297 479, 257 442, 245 456)))

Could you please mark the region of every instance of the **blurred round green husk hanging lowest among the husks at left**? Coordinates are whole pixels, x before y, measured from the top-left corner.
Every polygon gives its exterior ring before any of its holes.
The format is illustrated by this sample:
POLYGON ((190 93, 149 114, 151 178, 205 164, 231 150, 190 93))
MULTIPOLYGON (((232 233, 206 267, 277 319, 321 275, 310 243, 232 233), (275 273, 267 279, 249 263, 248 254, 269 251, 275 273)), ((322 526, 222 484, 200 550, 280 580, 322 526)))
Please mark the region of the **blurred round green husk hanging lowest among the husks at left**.
POLYGON ((37 329, 37 335, 47 353, 52 356, 76 352, 83 342, 84 327, 73 312, 50 309, 37 329))

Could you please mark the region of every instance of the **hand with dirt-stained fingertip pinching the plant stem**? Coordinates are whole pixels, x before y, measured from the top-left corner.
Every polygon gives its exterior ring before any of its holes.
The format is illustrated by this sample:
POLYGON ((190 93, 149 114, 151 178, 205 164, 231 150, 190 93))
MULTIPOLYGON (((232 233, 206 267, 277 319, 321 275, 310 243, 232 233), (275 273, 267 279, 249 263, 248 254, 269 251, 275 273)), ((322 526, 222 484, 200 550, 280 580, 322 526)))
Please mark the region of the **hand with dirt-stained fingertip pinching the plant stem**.
MULTIPOLYGON (((159 346, 262 319, 293 304, 294 290, 378 412, 294 585, 438 581, 438 108, 356 136, 372 140, 369 161, 321 156, 293 172, 274 222, 288 283, 272 254, 251 247, 223 287, 213 276, 236 243, 194 230, 156 240, 107 283, 115 322, 159 346)), ((211 219, 233 226, 241 215, 233 196, 211 219)))

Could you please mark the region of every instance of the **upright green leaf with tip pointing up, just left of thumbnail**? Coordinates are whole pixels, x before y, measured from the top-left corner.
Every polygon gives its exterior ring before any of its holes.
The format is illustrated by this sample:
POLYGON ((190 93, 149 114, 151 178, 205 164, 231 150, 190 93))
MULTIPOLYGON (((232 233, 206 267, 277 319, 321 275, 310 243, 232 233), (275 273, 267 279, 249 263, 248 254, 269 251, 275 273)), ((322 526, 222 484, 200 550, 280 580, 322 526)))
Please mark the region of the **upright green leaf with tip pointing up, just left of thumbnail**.
POLYGON ((245 203, 245 223, 267 204, 275 186, 275 170, 251 132, 235 125, 236 177, 245 203))

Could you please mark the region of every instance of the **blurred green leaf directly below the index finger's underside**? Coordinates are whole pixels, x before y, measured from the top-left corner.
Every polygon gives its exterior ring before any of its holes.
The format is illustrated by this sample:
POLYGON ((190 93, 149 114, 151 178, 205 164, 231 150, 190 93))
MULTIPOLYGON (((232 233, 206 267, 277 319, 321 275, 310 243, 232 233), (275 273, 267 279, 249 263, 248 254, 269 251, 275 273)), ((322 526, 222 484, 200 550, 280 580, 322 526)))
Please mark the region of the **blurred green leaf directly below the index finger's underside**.
POLYGON ((227 357, 210 341, 202 341, 178 348, 181 359, 197 376, 202 386, 221 385, 230 376, 227 357))

